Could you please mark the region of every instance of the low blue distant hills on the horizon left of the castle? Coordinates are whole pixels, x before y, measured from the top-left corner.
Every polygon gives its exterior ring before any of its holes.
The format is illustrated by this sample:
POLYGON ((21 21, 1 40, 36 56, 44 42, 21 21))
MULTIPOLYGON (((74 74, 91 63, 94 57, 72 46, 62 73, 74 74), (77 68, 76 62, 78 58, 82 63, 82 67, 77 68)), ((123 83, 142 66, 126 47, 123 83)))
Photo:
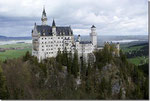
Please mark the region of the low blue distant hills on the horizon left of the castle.
POLYGON ((32 37, 6 37, 0 35, 0 41, 7 41, 7 40, 30 40, 32 37))

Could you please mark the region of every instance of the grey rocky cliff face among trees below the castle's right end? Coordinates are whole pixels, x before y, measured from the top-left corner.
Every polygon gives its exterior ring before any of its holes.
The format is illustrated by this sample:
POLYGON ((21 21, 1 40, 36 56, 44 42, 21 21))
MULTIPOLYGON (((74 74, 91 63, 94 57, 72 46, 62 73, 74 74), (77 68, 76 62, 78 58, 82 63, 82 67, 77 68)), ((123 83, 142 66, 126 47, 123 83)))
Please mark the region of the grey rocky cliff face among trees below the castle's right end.
POLYGON ((115 98, 116 95, 119 95, 119 93, 122 93, 122 95, 120 95, 121 99, 126 98, 126 84, 124 82, 125 80, 120 77, 119 67, 113 63, 107 64, 106 66, 102 67, 99 77, 101 79, 105 78, 105 80, 110 83, 112 99, 115 98))

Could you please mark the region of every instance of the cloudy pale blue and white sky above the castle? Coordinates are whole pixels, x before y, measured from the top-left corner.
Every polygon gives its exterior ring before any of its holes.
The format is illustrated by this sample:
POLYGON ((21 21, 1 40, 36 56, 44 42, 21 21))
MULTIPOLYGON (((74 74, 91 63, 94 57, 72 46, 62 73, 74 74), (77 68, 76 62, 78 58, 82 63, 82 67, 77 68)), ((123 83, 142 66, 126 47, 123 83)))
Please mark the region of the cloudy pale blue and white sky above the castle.
POLYGON ((0 0, 0 35, 31 36, 41 25, 43 5, 48 25, 71 26, 75 35, 148 35, 147 0, 0 0))

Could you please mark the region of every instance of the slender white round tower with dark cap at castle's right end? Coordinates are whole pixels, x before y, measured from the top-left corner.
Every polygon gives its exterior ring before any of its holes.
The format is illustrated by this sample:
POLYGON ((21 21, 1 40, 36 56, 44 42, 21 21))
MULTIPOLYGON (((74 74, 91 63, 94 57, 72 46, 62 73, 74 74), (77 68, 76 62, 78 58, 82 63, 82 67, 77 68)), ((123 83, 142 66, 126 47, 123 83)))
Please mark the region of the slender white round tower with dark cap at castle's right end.
POLYGON ((96 27, 93 25, 91 27, 91 33, 90 33, 91 41, 94 45, 94 48, 97 48, 97 33, 96 33, 96 27))

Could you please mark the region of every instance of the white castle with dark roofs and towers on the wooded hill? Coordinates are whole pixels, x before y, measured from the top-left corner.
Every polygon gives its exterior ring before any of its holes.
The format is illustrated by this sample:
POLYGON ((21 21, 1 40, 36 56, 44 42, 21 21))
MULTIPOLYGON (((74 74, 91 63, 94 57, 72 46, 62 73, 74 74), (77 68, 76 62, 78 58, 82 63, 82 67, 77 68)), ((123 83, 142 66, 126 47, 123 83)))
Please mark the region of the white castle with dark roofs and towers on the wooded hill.
POLYGON ((70 26, 56 26, 53 19, 52 26, 47 25, 47 16, 45 8, 42 13, 42 25, 34 25, 32 30, 32 55, 36 56, 39 61, 56 57, 58 50, 63 52, 74 53, 77 51, 78 57, 83 57, 85 60, 89 56, 93 56, 93 51, 97 49, 97 33, 96 27, 91 27, 91 41, 81 41, 80 35, 77 40, 74 39, 73 31, 70 26))

